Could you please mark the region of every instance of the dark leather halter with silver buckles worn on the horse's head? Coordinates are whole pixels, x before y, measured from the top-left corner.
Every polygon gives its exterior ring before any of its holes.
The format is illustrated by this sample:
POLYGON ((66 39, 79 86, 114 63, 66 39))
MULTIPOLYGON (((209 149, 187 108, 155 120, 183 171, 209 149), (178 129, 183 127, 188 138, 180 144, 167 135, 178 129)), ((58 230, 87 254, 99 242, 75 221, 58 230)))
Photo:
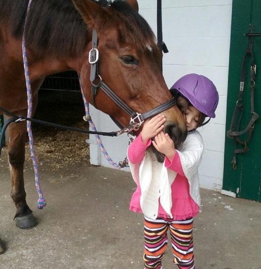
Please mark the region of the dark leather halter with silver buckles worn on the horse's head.
MULTIPOLYGON (((140 128, 141 124, 144 120, 162 112, 170 107, 176 105, 177 101, 173 97, 169 101, 163 103, 162 105, 144 113, 135 112, 132 108, 130 108, 127 104, 125 104, 120 97, 111 90, 106 83, 104 83, 98 72, 98 60, 99 60, 99 50, 98 47, 98 35, 96 29, 93 29, 92 35, 92 49, 89 52, 89 63, 91 64, 91 72, 90 72, 90 81, 92 84, 91 94, 92 94, 92 104, 96 108, 95 104, 95 96, 97 94, 98 89, 103 90, 122 110, 124 110, 130 117, 130 124, 136 124, 136 131, 140 128), (94 81, 99 79, 99 82, 96 84, 94 81)), ((113 118, 112 118, 113 119, 113 118)), ((115 119, 113 119, 115 121, 115 119)), ((119 126, 119 123, 115 121, 115 123, 119 126)))

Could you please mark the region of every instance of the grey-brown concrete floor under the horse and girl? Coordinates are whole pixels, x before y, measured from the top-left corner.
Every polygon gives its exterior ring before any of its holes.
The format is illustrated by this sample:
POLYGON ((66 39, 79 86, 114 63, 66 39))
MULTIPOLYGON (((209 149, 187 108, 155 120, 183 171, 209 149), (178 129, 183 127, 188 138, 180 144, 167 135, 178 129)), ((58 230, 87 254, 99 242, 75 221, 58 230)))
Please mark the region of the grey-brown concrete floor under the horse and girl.
MULTIPOLYGON (((6 158, 5 158, 6 159, 6 158)), ((142 269, 143 217, 129 212, 131 174, 101 167, 40 173, 47 206, 36 208, 31 169, 27 202, 39 224, 20 230, 13 217, 7 160, 0 162, 0 237, 6 248, 0 269, 142 269)), ((261 269, 261 203, 201 190, 195 219, 197 269, 261 269)), ((172 264, 170 245, 163 258, 172 264)))

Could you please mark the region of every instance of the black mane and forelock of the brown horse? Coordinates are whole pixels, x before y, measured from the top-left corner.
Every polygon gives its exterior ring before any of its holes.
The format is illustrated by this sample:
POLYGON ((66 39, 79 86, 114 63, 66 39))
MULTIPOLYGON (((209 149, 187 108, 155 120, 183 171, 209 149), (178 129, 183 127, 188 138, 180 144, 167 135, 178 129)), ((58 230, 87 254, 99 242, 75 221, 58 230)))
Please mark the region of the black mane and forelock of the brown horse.
MULTIPOLYGON (((28 2, 0 0, 0 23, 10 25, 15 38, 22 37, 28 2)), ((148 23, 125 1, 96 2, 115 10, 138 49, 144 51, 146 45, 155 45, 155 36, 148 23)), ((76 56, 87 45, 87 26, 72 0, 32 0, 26 20, 25 40, 30 47, 57 56, 76 56)), ((124 39, 124 35, 121 36, 124 39)))

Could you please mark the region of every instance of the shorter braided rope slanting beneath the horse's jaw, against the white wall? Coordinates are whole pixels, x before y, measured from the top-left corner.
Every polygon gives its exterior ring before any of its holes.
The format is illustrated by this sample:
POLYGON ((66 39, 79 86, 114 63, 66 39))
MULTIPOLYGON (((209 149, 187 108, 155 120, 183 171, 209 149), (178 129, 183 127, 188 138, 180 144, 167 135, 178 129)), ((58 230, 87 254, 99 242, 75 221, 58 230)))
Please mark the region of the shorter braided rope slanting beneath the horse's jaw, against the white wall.
MULTIPOLYGON (((88 122, 89 122, 89 125, 91 126, 92 128, 92 131, 94 132, 97 132, 96 130, 96 127, 91 119, 91 116, 90 116, 90 109, 89 109, 89 103, 87 102, 85 96, 84 96, 84 93, 83 93, 83 90, 82 90, 82 86, 81 86, 81 81, 80 81, 80 75, 78 74, 79 76, 79 83, 80 83, 80 91, 81 91, 81 95, 82 95, 82 99, 83 99, 83 103, 84 103, 84 109, 85 109, 85 114, 86 114, 86 118, 88 119, 88 122)), ((108 155, 107 151, 105 150, 102 142, 101 142, 101 139, 100 139, 100 135, 99 134, 95 134, 95 137, 96 137, 96 140, 100 146, 100 150, 102 151, 104 157, 107 159, 107 161, 112 164, 115 168, 118 168, 118 169, 121 169, 120 165, 117 164, 116 162, 114 162, 112 160, 112 158, 108 155)))

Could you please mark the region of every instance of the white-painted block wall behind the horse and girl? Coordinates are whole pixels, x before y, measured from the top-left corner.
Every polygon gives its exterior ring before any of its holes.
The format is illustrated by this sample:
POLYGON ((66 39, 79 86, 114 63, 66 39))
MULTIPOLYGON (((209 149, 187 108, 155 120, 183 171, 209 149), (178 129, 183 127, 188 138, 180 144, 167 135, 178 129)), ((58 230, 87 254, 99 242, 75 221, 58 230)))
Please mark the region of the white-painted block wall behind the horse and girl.
MULTIPOLYGON (((140 0, 139 6, 140 14, 157 33, 157 1, 140 0)), ((219 187, 223 179, 231 13, 232 0, 162 0, 163 40, 169 50, 163 56, 167 86, 195 72, 209 77, 220 94, 217 117, 200 128, 205 150, 199 173, 201 187, 207 189, 219 187)), ((91 113, 98 130, 118 130, 107 115, 93 108, 91 113)), ((102 141, 116 162, 125 157, 126 136, 102 137, 102 141)), ((96 144, 90 145, 90 152, 92 164, 112 167, 96 144)))

